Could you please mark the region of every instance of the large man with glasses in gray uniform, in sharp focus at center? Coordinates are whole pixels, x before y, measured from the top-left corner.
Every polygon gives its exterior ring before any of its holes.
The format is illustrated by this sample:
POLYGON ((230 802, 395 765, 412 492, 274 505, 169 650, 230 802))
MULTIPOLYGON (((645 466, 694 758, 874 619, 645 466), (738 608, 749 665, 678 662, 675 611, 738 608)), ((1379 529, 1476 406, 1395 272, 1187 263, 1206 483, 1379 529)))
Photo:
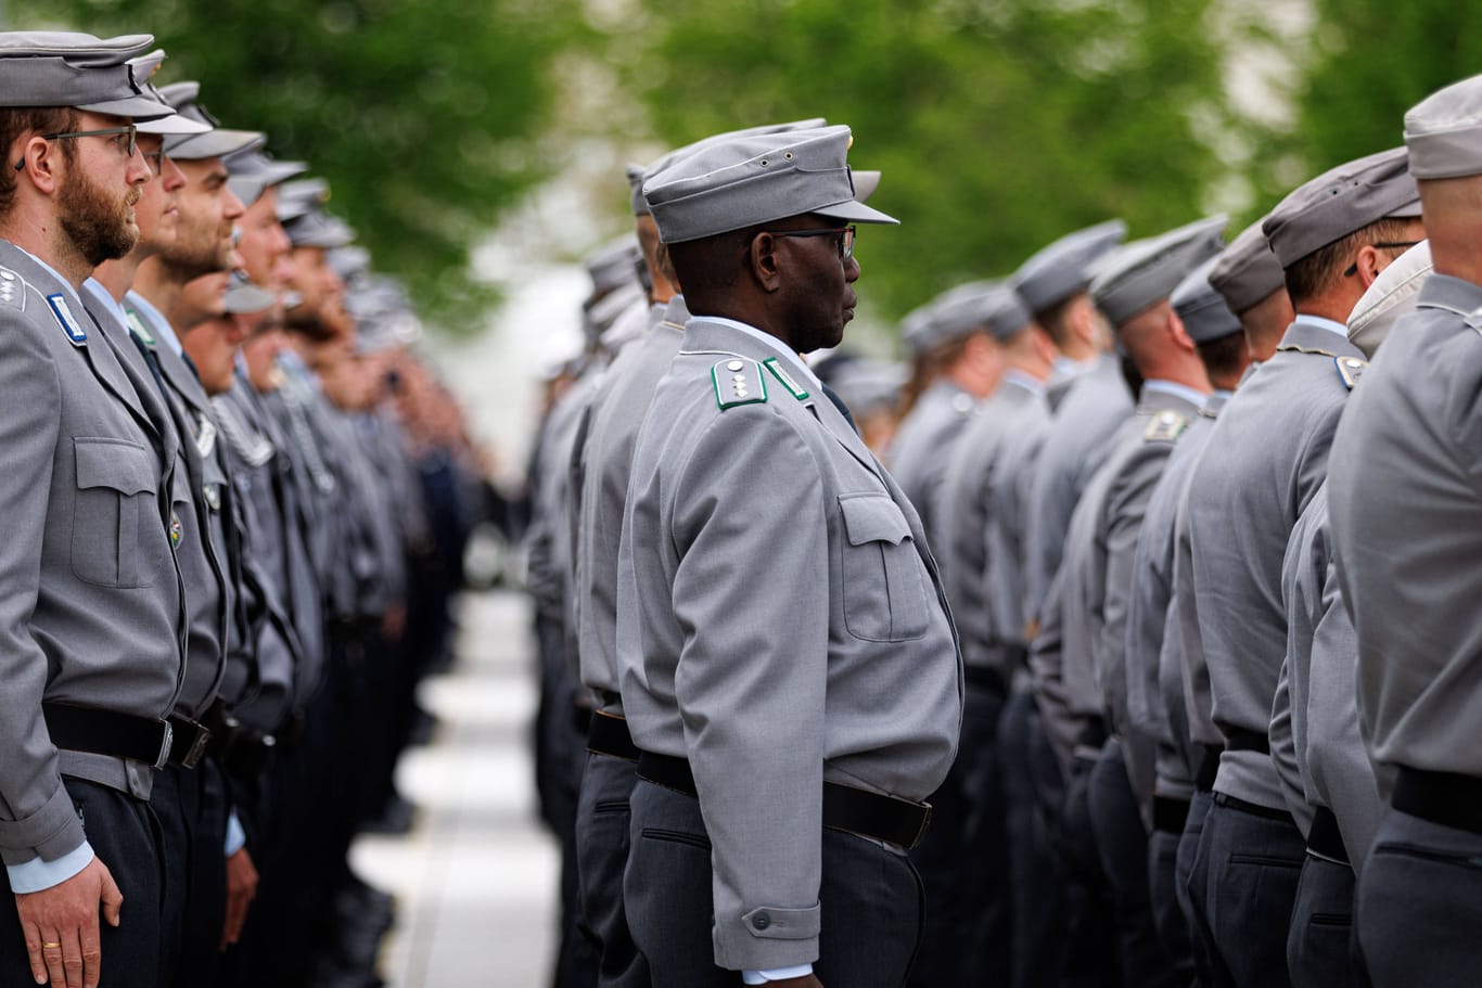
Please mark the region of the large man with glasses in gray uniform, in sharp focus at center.
POLYGON ((962 674, 910 502, 799 358, 860 274, 848 127, 741 138, 645 184, 697 313, 633 456, 618 560, 642 750, 624 899, 655 988, 904 984, 906 858, 962 674), (870 875, 865 880, 865 875, 870 875))

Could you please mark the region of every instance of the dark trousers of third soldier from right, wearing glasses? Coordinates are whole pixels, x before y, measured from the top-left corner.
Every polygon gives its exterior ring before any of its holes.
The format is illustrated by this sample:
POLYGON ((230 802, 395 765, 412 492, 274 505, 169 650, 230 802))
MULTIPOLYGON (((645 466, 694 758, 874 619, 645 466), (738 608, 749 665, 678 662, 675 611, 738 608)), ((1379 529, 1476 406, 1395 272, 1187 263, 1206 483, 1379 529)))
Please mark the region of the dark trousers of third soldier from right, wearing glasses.
POLYGON ((1236 988, 1289 985, 1286 932, 1307 841, 1289 816, 1255 812, 1215 792, 1199 855, 1208 868, 1205 912, 1236 988))

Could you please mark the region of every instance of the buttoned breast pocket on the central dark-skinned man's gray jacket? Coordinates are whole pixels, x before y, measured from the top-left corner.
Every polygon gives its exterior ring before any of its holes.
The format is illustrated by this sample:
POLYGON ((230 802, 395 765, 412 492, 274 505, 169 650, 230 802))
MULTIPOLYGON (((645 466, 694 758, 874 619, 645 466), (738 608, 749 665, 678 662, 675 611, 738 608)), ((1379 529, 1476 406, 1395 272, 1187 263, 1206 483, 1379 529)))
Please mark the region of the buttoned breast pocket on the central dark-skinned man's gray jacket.
POLYGON ((926 634, 928 598, 920 555, 906 515, 885 495, 839 498, 845 544, 843 618, 865 641, 910 641, 926 634))

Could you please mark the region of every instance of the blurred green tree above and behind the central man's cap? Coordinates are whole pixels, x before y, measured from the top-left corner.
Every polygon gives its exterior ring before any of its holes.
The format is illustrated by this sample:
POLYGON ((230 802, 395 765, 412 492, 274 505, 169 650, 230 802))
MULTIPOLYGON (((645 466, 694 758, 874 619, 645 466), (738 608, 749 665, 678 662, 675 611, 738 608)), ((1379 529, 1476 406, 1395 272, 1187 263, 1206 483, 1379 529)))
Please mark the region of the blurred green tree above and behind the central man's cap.
POLYGON ((897 316, 1122 216, 1194 219, 1218 172, 1211 0, 634 0, 612 59, 670 144, 825 116, 900 228, 861 231, 861 295, 897 316))

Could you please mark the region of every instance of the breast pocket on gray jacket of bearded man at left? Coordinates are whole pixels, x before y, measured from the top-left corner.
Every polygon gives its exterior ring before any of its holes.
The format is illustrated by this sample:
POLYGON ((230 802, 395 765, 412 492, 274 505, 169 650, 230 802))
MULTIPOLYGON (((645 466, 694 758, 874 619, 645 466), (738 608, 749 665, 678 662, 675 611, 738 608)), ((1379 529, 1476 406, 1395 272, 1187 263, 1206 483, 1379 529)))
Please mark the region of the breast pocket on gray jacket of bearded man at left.
POLYGON ((73 573, 99 587, 153 587, 160 572, 154 458, 127 440, 76 438, 73 573))

